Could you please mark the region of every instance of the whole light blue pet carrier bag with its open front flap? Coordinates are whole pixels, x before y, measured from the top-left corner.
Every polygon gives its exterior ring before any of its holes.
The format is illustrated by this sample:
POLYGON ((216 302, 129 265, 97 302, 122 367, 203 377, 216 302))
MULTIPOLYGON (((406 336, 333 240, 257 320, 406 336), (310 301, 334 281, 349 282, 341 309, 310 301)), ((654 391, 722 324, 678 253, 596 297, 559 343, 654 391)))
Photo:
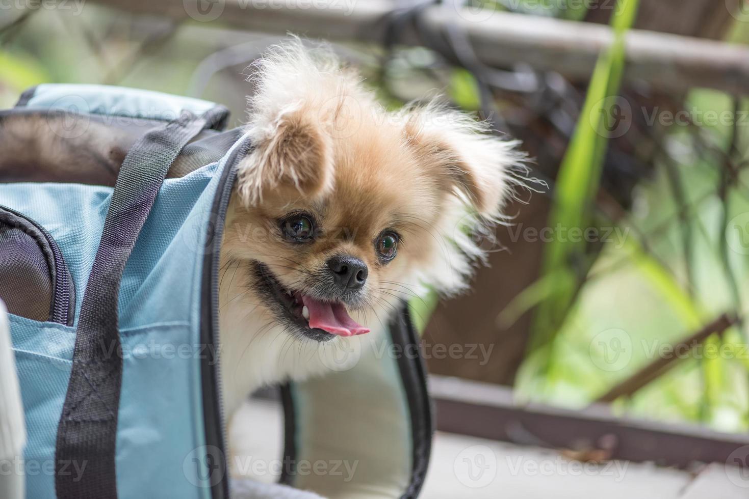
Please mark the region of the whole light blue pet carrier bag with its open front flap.
MULTIPOLYGON (((228 497, 218 262, 234 168, 252 144, 223 130, 227 117, 203 100, 97 85, 40 85, 0 111, 0 298, 26 497, 228 497)), ((413 351, 406 307, 389 341, 413 351)), ((282 390, 282 480, 331 498, 416 497, 431 442, 421 360, 362 355, 282 390), (295 472, 315 459, 357 472, 295 472)))

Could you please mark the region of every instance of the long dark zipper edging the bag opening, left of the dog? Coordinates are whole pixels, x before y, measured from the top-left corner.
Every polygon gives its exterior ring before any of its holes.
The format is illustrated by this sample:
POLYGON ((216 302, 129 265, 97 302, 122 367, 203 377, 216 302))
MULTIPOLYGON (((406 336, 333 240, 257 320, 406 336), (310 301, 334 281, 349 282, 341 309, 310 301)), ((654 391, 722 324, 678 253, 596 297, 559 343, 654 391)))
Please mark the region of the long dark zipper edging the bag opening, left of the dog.
MULTIPOLYGON (((213 198, 213 213, 216 217, 213 230, 209 227, 207 237, 213 238, 211 247, 206 248, 203 260, 203 296, 201 299, 201 343, 213 345, 213 354, 219 355, 221 345, 219 340, 219 266, 221 258, 221 241, 231 190, 237 179, 234 168, 237 161, 245 156, 249 150, 249 141, 240 144, 231 154, 222 178, 219 180, 217 195, 213 198)), ((226 462, 226 425, 224 417, 224 401, 221 393, 221 371, 216 359, 209 355, 201 356, 201 373, 203 388, 203 417, 205 423, 206 445, 221 450, 222 462, 215 472, 220 473, 222 480, 211 485, 212 499, 228 499, 228 463, 226 462), (212 361, 213 360, 213 361, 212 361), (213 397, 210 397, 212 394, 213 397)))

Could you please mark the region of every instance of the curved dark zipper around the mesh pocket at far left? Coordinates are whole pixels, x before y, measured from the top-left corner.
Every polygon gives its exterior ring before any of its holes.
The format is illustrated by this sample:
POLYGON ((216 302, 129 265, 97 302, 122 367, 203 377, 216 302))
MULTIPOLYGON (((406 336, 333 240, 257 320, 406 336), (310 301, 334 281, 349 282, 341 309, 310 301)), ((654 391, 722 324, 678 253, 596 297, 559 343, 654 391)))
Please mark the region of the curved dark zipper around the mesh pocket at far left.
MULTIPOLYGON (((36 221, 28 218, 26 215, 22 215, 13 209, 7 208, 7 206, 0 205, 0 210, 15 215, 17 218, 31 224, 45 239, 46 248, 49 249, 49 253, 52 256, 52 304, 49 310, 49 321, 58 322, 64 325, 73 325, 73 306, 75 304, 75 287, 73 286, 73 278, 70 275, 70 271, 67 269, 67 264, 62 256, 62 251, 58 246, 55 239, 52 237, 44 227, 38 224, 36 221)), ((46 251, 44 251, 46 254, 46 251)), ((49 255, 48 255, 49 257, 49 255)))

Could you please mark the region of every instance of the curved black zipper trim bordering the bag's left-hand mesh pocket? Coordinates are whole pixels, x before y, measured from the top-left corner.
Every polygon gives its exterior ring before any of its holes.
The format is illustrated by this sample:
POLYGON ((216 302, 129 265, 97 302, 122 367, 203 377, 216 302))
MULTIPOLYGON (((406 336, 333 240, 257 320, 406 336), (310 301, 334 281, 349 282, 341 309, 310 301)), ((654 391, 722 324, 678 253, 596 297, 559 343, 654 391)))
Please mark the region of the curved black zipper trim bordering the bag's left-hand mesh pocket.
POLYGON ((76 310, 76 288, 73 276, 67 269, 62 251, 55 238, 37 221, 16 212, 7 206, 0 205, 0 224, 17 227, 37 242, 46 257, 52 279, 52 300, 49 304, 49 322, 73 325, 76 310))

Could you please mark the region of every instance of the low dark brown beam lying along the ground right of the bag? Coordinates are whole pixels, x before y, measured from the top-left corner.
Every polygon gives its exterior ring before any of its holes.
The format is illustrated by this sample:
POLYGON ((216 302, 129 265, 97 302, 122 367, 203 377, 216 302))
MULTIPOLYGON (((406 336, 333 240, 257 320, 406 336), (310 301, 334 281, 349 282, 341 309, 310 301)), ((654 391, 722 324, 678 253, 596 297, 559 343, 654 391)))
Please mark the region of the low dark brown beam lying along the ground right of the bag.
MULTIPOLYGON (((687 469, 697 463, 729 464, 737 452, 745 456, 742 447, 749 445, 747 435, 617 417, 608 405, 579 411, 523 405, 510 388, 488 383, 431 376, 429 388, 437 406, 437 429, 444 432, 687 469)), ((749 466, 740 459, 730 464, 749 466)))

